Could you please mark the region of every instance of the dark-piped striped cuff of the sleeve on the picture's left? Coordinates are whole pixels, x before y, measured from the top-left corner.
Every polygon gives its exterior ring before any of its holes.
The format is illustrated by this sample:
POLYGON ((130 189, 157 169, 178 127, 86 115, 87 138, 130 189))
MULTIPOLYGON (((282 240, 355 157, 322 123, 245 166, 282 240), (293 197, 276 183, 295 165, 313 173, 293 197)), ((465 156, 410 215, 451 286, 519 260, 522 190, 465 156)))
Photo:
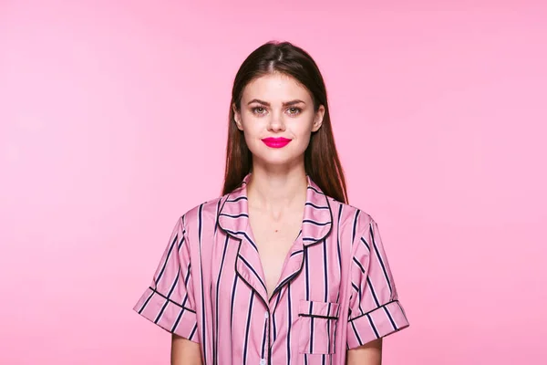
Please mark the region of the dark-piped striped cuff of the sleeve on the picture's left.
POLYGON ((170 333, 199 342, 196 312, 170 300, 152 287, 146 289, 133 310, 170 333))

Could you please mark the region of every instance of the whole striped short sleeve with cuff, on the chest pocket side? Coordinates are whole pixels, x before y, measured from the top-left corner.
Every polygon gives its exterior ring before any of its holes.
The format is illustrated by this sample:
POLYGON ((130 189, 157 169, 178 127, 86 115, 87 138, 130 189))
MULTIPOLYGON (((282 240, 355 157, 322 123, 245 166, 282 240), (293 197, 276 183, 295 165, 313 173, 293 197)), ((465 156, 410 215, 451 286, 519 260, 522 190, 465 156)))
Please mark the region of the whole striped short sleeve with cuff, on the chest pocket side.
POLYGON ((356 242, 352 261, 348 349, 408 328, 408 318, 398 300, 395 281, 374 220, 370 220, 356 242))

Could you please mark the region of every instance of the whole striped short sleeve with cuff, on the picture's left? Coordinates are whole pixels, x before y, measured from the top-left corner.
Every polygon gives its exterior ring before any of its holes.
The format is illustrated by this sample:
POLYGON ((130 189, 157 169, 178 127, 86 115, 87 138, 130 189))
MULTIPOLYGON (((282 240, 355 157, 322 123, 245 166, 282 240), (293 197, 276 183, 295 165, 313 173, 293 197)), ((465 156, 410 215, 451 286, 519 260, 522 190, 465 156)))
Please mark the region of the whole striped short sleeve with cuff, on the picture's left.
POLYGON ((170 333, 199 341, 190 249, 183 217, 170 235, 150 287, 139 297, 133 310, 170 333))

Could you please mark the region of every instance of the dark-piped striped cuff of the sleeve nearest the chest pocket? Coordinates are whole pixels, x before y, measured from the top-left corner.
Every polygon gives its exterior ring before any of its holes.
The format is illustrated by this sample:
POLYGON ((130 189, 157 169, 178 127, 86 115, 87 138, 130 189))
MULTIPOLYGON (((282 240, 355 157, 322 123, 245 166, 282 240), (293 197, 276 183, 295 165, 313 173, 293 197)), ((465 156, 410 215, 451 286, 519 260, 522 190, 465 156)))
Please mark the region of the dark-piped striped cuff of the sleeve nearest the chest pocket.
POLYGON ((408 327, 408 319, 398 300, 349 319, 347 349, 355 349, 374 339, 386 337, 408 327))

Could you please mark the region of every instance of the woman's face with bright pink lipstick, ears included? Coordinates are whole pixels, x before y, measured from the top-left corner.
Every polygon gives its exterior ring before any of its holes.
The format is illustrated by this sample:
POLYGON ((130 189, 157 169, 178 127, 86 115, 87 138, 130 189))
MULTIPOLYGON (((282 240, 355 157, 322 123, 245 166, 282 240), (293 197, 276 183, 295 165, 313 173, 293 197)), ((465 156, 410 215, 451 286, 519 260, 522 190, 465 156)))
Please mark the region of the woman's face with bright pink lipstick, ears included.
POLYGON ((319 130, 325 108, 314 111, 310 93, 281 73, 256 78, 243 89, 237 127, 253 153, 253 163, 304 163, 312 132, 319 130))

